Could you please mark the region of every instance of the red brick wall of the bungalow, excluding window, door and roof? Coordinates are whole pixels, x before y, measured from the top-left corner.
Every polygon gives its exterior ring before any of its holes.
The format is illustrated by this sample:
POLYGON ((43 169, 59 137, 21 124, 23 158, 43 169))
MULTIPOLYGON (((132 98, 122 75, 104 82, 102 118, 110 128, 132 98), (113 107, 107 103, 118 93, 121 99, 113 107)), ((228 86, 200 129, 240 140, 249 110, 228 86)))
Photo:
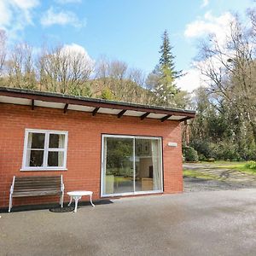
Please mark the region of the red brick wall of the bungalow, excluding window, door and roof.
MULTIPOLYGON (((101 135, 125 134, 163 137, 164 192, 183 191, 181 133, 177 121, 161 123, 157 119, 144 119, 61 109, 35 108, 0 103, 0 207, 9 204, 9 188, 13 176, 63 174, 65 191, 86 189, 100 197, 101 135), (68 131, 67 171, 20 172, 25 129, 68 131), (177 148, 168 147, 176 142, 177 148)), ((38 204, 56 198, 15 198, 15 205, 38 204)), ((84 198, 86 200, 86 198, 84 198)), ((65 195, 65 201, 68 201, 65 195)))

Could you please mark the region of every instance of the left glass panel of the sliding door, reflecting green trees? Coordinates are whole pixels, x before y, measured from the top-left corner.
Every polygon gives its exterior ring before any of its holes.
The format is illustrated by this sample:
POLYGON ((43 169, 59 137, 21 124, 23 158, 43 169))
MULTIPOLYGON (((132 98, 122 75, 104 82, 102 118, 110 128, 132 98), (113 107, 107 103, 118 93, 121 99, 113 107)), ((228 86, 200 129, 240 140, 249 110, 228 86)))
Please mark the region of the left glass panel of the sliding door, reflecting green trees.
POLYGON ((133 193, 133 139, 105 137, 104 151, 104 194, 133 193))

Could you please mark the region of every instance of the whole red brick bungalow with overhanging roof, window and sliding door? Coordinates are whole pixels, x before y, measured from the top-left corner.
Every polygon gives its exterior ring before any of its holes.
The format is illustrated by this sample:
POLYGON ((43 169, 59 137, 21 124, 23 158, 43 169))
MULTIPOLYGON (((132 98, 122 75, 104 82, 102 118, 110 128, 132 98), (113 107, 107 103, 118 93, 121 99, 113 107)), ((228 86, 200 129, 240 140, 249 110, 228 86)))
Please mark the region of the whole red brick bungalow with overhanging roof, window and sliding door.
MULTIPOLYGON (((0 207, 13 177, 63 176, 93 198, 183 191, 181 122, 190 110, 0 87, 0 207)), ((65 195, 65 201, 67 201, 65 195)), ((14 206, 56 201, 22 197, 14 206)))

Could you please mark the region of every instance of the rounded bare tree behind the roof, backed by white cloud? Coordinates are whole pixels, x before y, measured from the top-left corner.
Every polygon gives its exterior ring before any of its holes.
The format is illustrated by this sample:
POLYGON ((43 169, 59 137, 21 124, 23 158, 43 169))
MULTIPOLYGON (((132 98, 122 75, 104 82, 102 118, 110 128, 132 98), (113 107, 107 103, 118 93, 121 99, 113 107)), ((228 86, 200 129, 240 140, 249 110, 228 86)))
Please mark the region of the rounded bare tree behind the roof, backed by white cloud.
POLYGON ((87 55, 67 47, 44 49, 38 59, 38 76, 43 90, 90 96, 92 71, 87 55))

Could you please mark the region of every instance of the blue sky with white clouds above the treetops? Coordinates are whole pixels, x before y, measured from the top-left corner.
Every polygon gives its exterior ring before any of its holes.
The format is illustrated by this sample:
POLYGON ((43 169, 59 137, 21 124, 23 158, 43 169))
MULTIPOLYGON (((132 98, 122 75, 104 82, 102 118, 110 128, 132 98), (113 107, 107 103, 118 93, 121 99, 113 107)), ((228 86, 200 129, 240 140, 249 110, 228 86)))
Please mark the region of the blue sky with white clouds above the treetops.
POLYGON ((145 73, 158 63, 167 30, 177 70, 185 73, 177 86, 192 91, 201 85, 193 67, 199 39, 215 32, 222 40, 233 15, 250 7, 253 0, 0 0, 0 29, 9 44, 61 44, 145 73))

